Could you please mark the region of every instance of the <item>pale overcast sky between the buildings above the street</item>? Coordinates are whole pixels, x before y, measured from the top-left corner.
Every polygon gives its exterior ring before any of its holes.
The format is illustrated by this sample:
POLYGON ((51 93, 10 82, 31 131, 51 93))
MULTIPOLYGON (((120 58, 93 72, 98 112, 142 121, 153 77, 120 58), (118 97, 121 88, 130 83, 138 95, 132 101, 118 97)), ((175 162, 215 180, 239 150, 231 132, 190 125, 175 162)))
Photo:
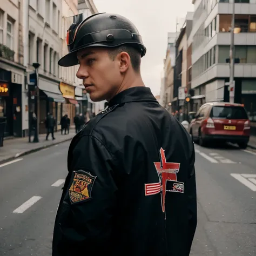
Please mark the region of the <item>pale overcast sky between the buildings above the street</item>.
POLYGON ((142 58, 142 77, 153 95, 159 95, 167 32, 176 32, 177 18, 193 11, 192 0, 93 0, 99 12, 112 12, 129 18, 142 35, 147 48, 142 58))

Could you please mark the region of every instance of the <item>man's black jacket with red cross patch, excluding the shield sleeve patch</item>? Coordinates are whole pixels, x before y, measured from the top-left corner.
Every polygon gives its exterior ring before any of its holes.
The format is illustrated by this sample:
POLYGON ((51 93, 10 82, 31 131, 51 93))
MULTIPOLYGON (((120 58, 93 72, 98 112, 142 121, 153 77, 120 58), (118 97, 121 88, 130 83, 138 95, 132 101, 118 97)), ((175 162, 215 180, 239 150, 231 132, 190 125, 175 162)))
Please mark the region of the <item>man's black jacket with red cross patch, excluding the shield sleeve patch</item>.
POLYGON ((189 255, 197 225, 194 147, 148 88, 119 93, 86 124, 71 143, 68 169, 53 255, 71 255, 60 252, 72 245, 80 252, 87 242, 94 253, 189 255), (77 204, 69 189, 74 170, 97 177, 90 200, 77 204))

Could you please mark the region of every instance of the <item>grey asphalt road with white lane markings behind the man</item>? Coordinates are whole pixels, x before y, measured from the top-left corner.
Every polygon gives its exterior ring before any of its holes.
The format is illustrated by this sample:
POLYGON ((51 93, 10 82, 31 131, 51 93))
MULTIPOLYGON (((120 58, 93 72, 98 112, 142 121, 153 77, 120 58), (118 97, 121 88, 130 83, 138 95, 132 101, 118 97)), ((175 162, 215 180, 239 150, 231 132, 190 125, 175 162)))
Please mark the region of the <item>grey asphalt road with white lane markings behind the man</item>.
MULTIPOLYGON (((51 255, 68 146, 0 165, 1 256, 51 255)), ((256 255, 256 152, 195 147, 198 227, 191 255, 256 255)))

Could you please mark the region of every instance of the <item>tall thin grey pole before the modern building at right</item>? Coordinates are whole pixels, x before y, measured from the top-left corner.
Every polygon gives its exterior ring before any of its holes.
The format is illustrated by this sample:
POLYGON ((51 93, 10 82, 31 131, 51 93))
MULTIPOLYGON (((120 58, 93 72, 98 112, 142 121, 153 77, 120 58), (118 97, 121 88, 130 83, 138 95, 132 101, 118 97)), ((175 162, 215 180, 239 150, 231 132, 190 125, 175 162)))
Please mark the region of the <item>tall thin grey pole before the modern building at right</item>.
POLYGON ((234 83, 234 12, 235 12, 235 0, 232 3, 232 23, 231 23, 231 33, 230 33, 230 102, 234 103, 234 91, 235 91, 235 83, 234 83))

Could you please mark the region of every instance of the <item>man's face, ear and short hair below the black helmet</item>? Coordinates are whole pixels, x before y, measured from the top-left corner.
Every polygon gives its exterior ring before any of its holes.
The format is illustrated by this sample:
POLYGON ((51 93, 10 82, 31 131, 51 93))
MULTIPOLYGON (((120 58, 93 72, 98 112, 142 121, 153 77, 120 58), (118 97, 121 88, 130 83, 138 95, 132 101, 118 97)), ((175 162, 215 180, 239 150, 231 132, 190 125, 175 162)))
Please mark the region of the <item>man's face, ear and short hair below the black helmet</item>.
POLYGON ((78 51, 77 58, 77 77, 83 79, 86 91, 95 102, 110 100, 119 91, 125 77, 140 77, 140 53, 129 45, 87 48, 78 51))

